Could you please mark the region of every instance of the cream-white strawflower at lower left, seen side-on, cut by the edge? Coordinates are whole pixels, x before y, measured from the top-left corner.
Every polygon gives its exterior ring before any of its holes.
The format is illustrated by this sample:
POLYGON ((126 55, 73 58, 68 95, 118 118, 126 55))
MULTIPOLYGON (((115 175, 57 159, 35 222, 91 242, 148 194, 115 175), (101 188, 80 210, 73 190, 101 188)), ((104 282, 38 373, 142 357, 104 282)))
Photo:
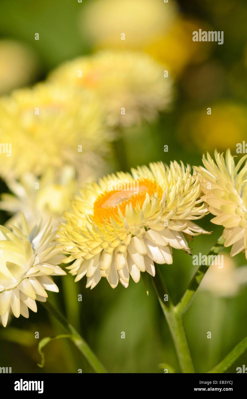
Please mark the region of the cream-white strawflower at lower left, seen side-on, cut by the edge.
POLYGON ((65 275, 59 266, 61 247, 54 242, 56 233, 50 223, 31 232, 21 214, 20 229, 0 226, 0 315, 6 327, 9 314, 28 318, 28 308, 37 312, 35 300, 45 302, 45 290, 58 292, 50 275, 65 275))

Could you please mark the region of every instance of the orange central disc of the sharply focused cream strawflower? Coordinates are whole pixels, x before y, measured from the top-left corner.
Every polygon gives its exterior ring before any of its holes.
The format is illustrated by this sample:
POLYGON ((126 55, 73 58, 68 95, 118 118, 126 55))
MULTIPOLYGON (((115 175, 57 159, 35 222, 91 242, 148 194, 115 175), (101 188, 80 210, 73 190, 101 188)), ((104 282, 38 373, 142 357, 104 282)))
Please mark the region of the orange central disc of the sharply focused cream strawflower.
POLYGON ((125 216, 128 204, 131 203, 133 209, 137 207, 141 209, 146 194, 151 198, 155 193, 158 194, 160 201, 163 194, 162 189, 156 182, 149 179, 115 181, 114 190, 105 191, 94 202, 92 219, 99 224, 109 222, 111 218, 119 221, 118 209, 125 216))

